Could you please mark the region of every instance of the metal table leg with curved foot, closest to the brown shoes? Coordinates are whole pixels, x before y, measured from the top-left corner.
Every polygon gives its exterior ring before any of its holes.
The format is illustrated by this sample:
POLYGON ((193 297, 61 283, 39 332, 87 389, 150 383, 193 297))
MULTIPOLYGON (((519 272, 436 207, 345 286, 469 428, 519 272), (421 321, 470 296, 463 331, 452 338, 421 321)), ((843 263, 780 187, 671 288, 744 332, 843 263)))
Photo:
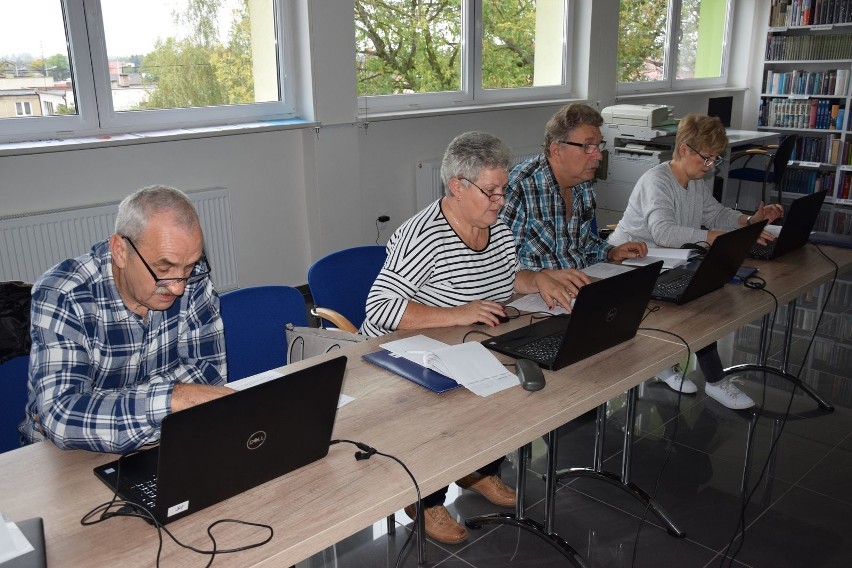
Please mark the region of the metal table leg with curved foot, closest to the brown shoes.
MULTIPOLYGON (((548 436, 553 436, 555 438, 555 433, 551 432, 548 436)), ((558 534, 552 532, 550 528, 545 528, 532 519, 528 519, 524 516, 524 501, 525 501, 525 490, 526 490, 526 471, 527 471, 527 459, 528 456, 532 453, 532 444, 526 444, 524 447, 518 450, 518 477, 517 483, 515 485, 515 489, 517 491, 518 499, 515 503, 515 512, 514 513, 491 513, 488 515, 479 515, 477 517, 471 517, 465 521, 465 525, 471 529, 481 528, 482 525, 487 524, 499 524, 499 525, 511 525, 514 527, 518 527, 520 529, 524 529, 525 531, 532 533, 540 538, 542 538, 545 542, 550 543, 556 550, 558 550, 575 568, 587 568, 586 562, 583 560, 583 557, 577 553, 576 550, 571 548, 571 546, 565 542, 558 534)), ((548 450, 547 454, 548 459, 548 467, 553 467, 555 469, 555 465, 550 464, 550 460, 553 459, 553 463, 555 464, 555 452, 551 448, 548 450)), ((551 476, 552 477, 552 476, 551 476)), ((548 495, 551 493, 548 490, 548 495)), ((547 497, 545 497, 545 509, 548 509, 548 503, 550 507, 550 514, 546 512, 545 515, 548 517, 549 524, 552 524, 552 509, 553 503, 552 500, 555 498, 555 492, 551 496, 551 500, 547 501, 547 497)))

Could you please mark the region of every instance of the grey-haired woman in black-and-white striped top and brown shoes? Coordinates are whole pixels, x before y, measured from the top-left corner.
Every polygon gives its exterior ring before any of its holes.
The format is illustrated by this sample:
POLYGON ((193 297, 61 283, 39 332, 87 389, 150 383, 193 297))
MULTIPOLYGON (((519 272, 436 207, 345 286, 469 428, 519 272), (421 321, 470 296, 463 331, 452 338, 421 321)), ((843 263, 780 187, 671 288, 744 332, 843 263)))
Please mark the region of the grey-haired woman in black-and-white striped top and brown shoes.
MULTIPOLYGON (((446 195, 403 223, 367 297, 361 332, 485 323, 505 316, 513 293, 540 293, 548 306, 570 306, 568 287, 551 271, 521 270, 512 232, 498 218, 509 180, 509 148, 483 132, 450 143, 441 163, 446 195)), ((496 505, 512 507, 515 492, 499 478, 502 459, 458 481, 496 505)), ((426 533, 458 543, 467 531, 444 507, 447 488, 423 499, 426 533)), ((414 505, 406 507, 414 518, 414 505)))

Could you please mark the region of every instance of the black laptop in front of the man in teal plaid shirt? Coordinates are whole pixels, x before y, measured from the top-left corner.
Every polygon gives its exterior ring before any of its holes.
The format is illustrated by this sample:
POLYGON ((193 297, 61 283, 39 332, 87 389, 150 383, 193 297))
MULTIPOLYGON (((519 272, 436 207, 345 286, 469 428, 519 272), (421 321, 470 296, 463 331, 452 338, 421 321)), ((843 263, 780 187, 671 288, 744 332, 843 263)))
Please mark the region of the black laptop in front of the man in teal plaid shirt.
POLYGON ((761 221, 719 235, 697 266, 674 268, 660 274, 651 297, 685 304, 718 290, 736 275, 765 226, 766 221, 761 221))

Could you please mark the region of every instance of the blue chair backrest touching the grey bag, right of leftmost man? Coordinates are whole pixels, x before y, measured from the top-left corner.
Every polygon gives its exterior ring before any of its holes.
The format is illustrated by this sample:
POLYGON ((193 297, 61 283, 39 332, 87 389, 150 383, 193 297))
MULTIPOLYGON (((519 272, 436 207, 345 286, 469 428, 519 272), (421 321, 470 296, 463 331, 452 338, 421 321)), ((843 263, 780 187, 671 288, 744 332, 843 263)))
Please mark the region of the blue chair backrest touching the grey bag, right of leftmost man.
POLYGON ((219 297, 228 380, 287 364, 284 327, 308 325, 305 298, 292 286, 250 286, 219 297))

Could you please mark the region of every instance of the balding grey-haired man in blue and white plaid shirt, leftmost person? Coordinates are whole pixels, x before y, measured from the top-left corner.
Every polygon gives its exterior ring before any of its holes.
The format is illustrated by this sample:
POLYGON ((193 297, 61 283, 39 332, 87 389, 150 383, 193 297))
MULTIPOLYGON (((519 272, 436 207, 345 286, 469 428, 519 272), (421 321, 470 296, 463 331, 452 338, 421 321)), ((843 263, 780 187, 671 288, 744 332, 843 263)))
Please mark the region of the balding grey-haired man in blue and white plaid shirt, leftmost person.
POLYGON ((229 394, 219 298, 192 202, 119 205, 115 234, 33 286, 25 442, 126 453, 171 413, 229 394))

